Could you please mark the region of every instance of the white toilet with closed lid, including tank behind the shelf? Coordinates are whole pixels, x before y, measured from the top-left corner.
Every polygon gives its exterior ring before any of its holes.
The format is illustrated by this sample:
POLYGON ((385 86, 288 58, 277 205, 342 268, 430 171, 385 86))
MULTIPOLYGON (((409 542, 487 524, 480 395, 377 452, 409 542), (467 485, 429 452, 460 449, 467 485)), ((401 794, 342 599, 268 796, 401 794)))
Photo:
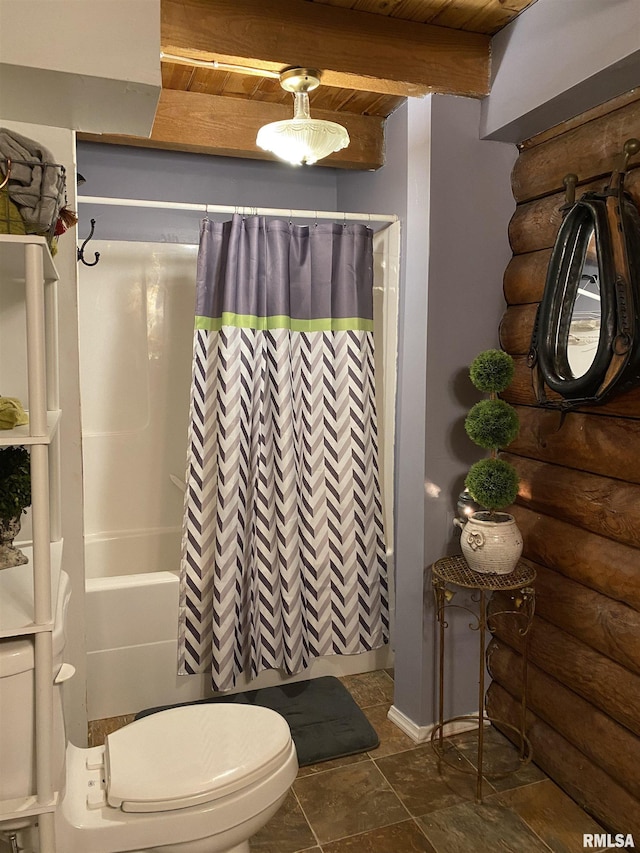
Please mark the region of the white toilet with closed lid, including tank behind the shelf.
MULTIPOLYGON (((298 771, 285 719, 255 705, 186 705, 136 720, 108 735, 104 746, 66 743, 61 693, 72 674, 62 663, 69 595, 62 572, 53 632, 56 849, 249 853, 249 838, 282 805, 298 771)), ((35 778, 28 639, 0 641, 0 708, 0 799, 28 796, 35 778)), ((0 839, 20 837, 23 828, 24 822, 0 822, 0 839)))

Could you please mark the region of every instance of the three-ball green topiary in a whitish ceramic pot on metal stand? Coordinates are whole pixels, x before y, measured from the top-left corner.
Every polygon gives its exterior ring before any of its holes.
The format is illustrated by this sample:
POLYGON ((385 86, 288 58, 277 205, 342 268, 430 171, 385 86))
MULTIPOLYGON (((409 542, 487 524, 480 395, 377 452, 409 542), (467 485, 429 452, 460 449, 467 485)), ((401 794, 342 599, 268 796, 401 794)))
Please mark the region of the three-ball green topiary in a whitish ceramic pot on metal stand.
POLYGON ((482 509, 472 513, 462 528, 460 544, 470 568, 481 573, 508 574, 522 554, 522 536, 515 518, 504 512, 518 494, 518 473, 498 457, 518 435, 515 409, 498 398, 511 383, 514 363, 501 350, 481 352, 471 364, 474 386, 489 395, 471 409, 465 420, 469 438, 490 455, 469 469, 465 487, 482 509))

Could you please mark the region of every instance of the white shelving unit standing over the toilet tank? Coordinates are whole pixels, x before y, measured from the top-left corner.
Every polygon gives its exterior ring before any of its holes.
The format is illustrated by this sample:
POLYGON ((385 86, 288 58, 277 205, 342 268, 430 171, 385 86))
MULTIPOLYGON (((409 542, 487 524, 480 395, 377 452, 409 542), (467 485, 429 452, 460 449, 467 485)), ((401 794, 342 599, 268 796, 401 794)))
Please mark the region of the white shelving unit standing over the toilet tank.
MULTIPOLYGON (((35 790, 0 801, 0 821, 37 816, 40 853, 55 853, 53 789, 53 605, 62 563, 58 386, 58 273, 44 237, 0 234, 0 287, 21 285, 27 344, 29 424, 0 431, 0 447, 31 454, 32 545, 29 563, 0 571, 0 638, 33 637, 35 790)), ((5 391, 4 393, 8 393, 5 391)))

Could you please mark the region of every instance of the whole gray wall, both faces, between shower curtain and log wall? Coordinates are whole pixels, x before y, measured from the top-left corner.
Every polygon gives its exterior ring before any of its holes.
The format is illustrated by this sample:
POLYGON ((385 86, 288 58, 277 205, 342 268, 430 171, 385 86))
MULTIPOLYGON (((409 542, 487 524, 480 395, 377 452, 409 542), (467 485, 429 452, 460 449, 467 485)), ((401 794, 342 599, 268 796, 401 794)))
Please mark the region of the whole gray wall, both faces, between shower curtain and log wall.
MULTIPOLYGON (((387 122, 386 165, 340 175, 341 206, 391 208, 403 257, 396 424, 395 710, 421 736, 436 719, 436 635, 426 569, 459 553, 457 495, 479 458, 464 417, 468 365, 497 345, 500 282, 511 251, 513 145, 479 140, 480 103, 410 100, 387 122)), ((452 614, 447 715, 477 710, 477 634, 452 614)))

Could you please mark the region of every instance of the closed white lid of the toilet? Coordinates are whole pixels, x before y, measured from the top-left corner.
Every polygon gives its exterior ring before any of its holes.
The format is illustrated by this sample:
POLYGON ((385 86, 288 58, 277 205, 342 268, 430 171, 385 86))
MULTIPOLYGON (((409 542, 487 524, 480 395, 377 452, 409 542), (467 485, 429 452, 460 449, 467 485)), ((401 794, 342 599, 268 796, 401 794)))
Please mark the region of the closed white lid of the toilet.
POLYGON ((211 802, 270 775, 290 751, 289 726, 269 708, 171 708, 107 737, 107 799, 126 812, 211 802))

